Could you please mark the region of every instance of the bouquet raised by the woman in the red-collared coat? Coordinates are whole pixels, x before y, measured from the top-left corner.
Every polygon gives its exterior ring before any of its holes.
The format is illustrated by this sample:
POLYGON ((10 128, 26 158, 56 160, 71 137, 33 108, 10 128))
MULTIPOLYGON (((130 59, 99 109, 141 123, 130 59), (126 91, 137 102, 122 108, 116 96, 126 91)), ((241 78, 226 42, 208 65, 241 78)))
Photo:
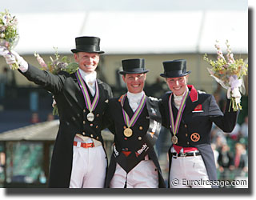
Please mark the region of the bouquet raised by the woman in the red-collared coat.
POLYGON ((232 54, 228 40, 226 40, 226 58, 224 57, 218 41, 216 41, 215 48, 217 50, 218 59, 212 61, 207 58, 207 54, 204 55, 204 60, 210 64, 207 70, 222 87, 230 90, 230 98, 234 111, 238 109, 242 110, 240 105, 240 98, 242 94, 245 94, 245 87, 243 84, 243 75, 247 74, 248 64, 247 59, 243 61, 242 58, 234 59, 234 54, 232 54))

